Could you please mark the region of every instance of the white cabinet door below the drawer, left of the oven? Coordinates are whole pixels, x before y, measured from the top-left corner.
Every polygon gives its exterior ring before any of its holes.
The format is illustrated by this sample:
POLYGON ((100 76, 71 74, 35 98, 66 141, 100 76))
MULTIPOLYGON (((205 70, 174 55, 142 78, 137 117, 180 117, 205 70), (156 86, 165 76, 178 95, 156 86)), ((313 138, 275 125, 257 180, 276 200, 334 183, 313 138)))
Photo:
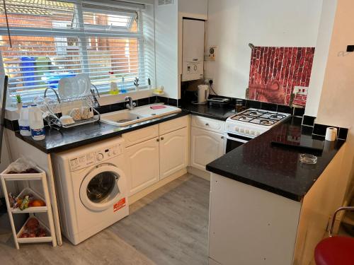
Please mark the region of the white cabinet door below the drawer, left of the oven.
POLYGON ((190 134, 190 165, 205 170, 205 165, 224 153, 224 136, 192 127, 190 134))

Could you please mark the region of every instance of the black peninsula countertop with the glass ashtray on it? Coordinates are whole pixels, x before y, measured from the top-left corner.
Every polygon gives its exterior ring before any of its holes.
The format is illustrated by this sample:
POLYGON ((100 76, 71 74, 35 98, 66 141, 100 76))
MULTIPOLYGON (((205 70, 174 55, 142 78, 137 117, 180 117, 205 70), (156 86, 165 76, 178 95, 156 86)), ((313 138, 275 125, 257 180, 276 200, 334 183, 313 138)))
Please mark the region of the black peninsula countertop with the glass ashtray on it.
MULTIPOLYGON (((323 139, 321 139, 323 140, 323 139)), ((207 165, 207 170, 253 187, 301 201, 345 141, 324 142, 324 150, 315 165, 299 162, 298 143, 311 144, 312 136, 301 119, 291 117, 221 158, 207 165), (292 141, 292 146, 274 146, 272 141, 292 141)), ((315 142, 315 141, 314 141, 315 142)))

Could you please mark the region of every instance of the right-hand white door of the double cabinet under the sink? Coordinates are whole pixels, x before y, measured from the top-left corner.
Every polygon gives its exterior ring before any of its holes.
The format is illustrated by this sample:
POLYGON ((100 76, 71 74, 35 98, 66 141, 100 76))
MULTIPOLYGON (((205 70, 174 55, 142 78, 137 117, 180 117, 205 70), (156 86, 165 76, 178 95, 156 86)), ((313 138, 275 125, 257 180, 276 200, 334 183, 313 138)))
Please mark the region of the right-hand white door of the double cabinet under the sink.
POLYGON ((188 165, 188 129, 160 136, 160 179, 188 165))

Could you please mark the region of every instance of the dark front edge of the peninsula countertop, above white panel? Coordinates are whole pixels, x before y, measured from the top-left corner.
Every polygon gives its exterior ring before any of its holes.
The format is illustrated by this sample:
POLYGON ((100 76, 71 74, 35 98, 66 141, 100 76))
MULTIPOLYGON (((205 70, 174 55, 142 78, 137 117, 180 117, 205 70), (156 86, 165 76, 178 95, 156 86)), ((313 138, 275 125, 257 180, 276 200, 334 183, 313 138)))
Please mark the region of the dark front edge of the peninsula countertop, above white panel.
POLYGON ((207 169, 207 171, 210 171, 210 172, 215 173, 217 175, 221 175, 222 177, 234 179, 238 182, 242 182, 244 184, 251 185, 251 186, 256 187, 258 189, 263 189, 265 192, 271 192, 273 194, 278 194, 280 196, 283 196, 287 199, 291 199, 293 201, 302 201, 302 198, 303 198, 303 196, 298 196, 297 194, 292 194, 291 192, 285 192, 285 191, 282 191, 281 189, 277 189, 275 187, 265 185, 261 182, 256 182, 256 181, 253 181, 252 179, 248 179, 246 177, 241 177, 239 175, 234 175, 232 173, 226 172, 224 170, 219 170, 215 167, 210 167, 210 165, 207 165, 206 169, 207 169))

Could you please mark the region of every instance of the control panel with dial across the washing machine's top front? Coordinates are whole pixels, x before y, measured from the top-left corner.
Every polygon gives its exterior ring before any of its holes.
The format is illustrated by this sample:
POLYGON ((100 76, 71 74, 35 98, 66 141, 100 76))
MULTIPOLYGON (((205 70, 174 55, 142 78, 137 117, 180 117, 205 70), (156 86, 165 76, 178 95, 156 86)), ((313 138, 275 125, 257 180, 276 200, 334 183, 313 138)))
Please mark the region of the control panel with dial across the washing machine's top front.
POLYGON ((95 165, 102 163, 105 160, 113 158, 122 153, 122 146, 110 146, 108 148, 96 150, 90 153, 85 153, 83 155, 75 156, 69 159, 69 166, 71 170, 79 170, 81 168, 87 167, 89 165, 95 165))

